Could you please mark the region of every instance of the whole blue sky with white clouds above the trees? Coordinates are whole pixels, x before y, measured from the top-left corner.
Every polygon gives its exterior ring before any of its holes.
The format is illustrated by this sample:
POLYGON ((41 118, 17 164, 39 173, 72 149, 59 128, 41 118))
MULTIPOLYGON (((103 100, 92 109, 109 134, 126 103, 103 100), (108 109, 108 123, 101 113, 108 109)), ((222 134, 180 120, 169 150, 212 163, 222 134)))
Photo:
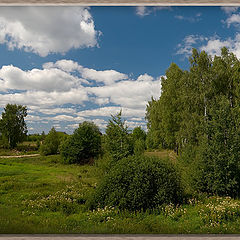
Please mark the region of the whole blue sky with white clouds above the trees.
POLYGON ((237 7, 0 7, 0 112, 26 105, 29 133, 104 131, 122 109, 146 130, 172 62, 188 69, 192 48, 240 57, 237 7))

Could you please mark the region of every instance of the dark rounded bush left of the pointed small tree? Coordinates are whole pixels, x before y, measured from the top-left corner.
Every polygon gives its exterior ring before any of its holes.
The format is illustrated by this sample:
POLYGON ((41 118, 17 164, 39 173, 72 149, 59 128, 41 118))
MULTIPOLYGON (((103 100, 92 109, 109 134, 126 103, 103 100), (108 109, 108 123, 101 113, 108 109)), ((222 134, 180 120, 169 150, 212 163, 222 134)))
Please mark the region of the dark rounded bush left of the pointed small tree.
POLYGON ((83 122, 60 147, 65 163, 88 163, 101 152, 101 132, 92 122, 83 122))

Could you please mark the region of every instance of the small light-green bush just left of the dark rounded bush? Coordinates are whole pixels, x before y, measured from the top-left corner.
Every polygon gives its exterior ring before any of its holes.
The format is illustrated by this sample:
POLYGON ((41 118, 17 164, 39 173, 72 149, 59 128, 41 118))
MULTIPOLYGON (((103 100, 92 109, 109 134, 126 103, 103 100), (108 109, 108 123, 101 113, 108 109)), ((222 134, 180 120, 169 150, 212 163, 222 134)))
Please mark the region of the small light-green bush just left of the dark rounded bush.
POLYGON ((60 144, 59 136, 53 127, 46 136, 43 144, 40 146, 40 153, 42 155, 52 155, 58 153, 60 144))

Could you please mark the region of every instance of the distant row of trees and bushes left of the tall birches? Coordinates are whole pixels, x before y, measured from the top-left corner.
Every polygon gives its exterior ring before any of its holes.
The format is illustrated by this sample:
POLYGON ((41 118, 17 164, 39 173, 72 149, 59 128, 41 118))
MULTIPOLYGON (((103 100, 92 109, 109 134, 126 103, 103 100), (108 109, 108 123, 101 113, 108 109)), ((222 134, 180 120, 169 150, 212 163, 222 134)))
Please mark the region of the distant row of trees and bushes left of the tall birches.
POLYGON ((42 155, 61 153, 65 162, 87 163, 103 151, 119 160, 132 153, 144 152, 146 133, 141 127, 129 131, 122 120, 121 111, 109 119, 106 134, 96 124, 84 121, 72 135, 57 132, 53 127, 47 135, 27 136, 27 107, 7 104, 0 119, 1 147, 13 149, 23 140, 36 141, 42 155), (42 144, 40 144, 40 142, 42 144))

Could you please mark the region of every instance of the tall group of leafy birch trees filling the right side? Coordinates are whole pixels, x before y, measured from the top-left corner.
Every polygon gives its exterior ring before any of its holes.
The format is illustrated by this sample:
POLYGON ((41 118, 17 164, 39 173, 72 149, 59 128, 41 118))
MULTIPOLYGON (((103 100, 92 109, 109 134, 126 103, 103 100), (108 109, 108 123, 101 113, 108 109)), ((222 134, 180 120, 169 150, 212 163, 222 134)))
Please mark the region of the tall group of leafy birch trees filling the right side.
POLYGON ((147 144, 175 149, 190 188, 239 196, 240 61, 227 48, 214 57, 193 49, 189 63, 172 63, 149 101, 147 144))

